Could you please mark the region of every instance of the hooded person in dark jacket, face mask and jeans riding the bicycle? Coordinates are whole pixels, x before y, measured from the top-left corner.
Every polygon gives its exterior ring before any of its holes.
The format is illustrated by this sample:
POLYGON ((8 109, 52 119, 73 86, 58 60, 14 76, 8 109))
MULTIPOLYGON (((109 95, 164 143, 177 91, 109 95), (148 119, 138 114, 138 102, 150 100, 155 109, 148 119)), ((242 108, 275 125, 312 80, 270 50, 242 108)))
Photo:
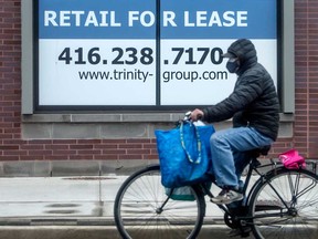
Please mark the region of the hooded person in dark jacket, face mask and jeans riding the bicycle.
POLYGON ((211 200, 227 205, 243 199, 240 177, 250 162, 246 152, 276 141, 279 102, 274 82, 257 62, 251 40, 236 40, 222 56, 229 59, 227 71, 237 75, 234 91, 215 105, 195 108, 190 117, 208 123, 233 118, 233 128, 215 132, 210 139, 215 183, 222 188, 211 200))

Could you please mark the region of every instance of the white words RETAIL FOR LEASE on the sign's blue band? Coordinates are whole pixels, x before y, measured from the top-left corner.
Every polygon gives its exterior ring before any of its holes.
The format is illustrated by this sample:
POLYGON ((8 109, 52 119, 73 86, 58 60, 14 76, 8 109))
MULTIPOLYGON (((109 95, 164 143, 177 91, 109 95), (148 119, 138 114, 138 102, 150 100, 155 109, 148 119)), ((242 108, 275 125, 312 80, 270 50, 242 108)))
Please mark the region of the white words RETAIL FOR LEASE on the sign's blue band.
MULTIPOLYGON (((176 12, 162 12, 163 27, 177 27, 176 12)), ((184 11, 184 27, 242 27, 246 28, 247 11, 184 11)), ((141 24, 151 27, 156 23, 156 15, 151 11, 128 11, 128 27, 141 24)), ((121 27, 116 19, 115 11, 44 11, 44 27, 121 27)))

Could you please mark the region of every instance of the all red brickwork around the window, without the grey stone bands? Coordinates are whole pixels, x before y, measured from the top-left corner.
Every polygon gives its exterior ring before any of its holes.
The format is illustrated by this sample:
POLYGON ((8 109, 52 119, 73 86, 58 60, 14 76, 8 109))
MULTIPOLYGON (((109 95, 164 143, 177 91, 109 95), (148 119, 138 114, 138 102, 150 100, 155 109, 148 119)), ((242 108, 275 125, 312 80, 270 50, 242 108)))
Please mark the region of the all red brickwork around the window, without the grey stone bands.
MULTIPOLYGON (((156 159, 155 139, 21 139, 21 0, 0 0, 0 160, 156 159)), ((296 147, 318 158, 318 1, 295 0, 296 147)))

